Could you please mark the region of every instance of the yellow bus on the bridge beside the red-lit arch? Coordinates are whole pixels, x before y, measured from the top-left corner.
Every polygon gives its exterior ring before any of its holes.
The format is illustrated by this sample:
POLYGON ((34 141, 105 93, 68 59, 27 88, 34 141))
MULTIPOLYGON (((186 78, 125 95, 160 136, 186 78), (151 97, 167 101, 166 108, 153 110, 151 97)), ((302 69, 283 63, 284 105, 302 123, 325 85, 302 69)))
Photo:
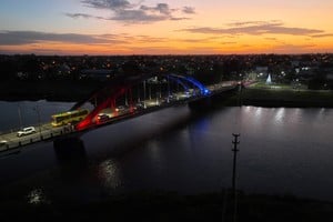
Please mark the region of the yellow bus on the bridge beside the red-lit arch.
POLYGON ((68 123, 77 123, 83 120, 89 113, 89 110, 73 110, 52 115, 51 124, 53 127, 65 125, 68 123))

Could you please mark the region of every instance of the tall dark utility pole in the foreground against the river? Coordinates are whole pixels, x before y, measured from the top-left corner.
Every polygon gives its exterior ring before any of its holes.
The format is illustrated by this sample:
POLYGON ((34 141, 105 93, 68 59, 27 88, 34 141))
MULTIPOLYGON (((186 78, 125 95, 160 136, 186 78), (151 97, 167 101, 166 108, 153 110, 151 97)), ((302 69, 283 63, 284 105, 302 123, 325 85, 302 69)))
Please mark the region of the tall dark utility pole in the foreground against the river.
POLYGON ((239 133, 232 133, 232 137, 234 140, 232 141, 233 149, 233 168, 232 168, 232 193, 233 193, 233 221, 236 221, 236 213, 238 213, 238 201, 236 201, 236 184, 235 184, 235 179, 236 179, 236 157, 238 152, 240 151, 238 149, 238 144, 240 143, 239 141, 239 133))

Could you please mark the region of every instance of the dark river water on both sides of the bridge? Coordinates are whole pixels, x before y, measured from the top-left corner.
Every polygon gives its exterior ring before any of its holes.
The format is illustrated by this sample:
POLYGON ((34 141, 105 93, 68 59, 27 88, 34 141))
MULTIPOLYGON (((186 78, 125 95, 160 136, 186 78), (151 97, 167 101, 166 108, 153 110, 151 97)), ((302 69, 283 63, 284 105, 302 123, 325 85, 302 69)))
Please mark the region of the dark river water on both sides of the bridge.
MULTIPOLYGON (((72 105, 0 102, 0 131, 37 123, 36 108, 44 122, 72 105)), ((231 186, 232 133, 240 133, 239 189, 333 201, 332 127, 332 109, 168 108, 90 131, 75 144, 42 142, 2 157, 0 193, 82 203, 142 189, 221 191, 231 186)))

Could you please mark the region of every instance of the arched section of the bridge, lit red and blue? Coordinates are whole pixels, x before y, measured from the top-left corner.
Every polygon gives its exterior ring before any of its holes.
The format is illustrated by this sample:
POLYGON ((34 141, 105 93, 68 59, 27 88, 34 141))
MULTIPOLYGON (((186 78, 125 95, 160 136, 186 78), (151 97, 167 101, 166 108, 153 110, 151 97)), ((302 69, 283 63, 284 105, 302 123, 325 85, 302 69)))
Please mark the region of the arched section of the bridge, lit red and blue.
POLYGON ((118 78, 94 91, 72 109, 89 113, 75 124, 78 131, 209 97, 211 91, 191 77, 178 74, 118 78))

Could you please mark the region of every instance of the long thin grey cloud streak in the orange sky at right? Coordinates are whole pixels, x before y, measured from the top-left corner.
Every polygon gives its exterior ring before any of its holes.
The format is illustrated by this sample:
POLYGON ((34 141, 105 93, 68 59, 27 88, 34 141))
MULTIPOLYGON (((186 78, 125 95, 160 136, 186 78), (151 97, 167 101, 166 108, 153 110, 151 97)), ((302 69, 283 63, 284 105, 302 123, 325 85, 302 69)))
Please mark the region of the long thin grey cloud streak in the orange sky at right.
POLYGON ((324 31, 319 29, 306 29, 306 28, 294 28, 285 27, 282 22, 270 21, 270 22, 238 22, 231 23, 231 28, 189 28, 182 31, 192 33, 206 33, 206 34, 291 34, 291 36, 312 36, 321 34, 324 31), (232 26, 233 24, 233 26, 232 26))

